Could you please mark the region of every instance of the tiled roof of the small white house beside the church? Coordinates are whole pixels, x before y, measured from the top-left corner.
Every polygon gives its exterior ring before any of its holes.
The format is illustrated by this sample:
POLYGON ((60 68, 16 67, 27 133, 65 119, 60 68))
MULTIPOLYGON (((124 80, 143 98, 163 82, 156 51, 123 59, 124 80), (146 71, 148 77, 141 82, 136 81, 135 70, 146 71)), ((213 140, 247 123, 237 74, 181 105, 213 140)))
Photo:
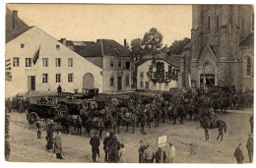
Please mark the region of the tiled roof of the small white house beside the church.
MULTIPOLYGON (((172 65, 176 68, 179 68, 179 60, 180 60, 179 55, 167 56, 167 55, 163 55, 163 54, 158 54, 158 55, 155 55, 154 58, 155 58, 155 60, 163 60, 163 61, 167 62, 168 64, 170 64, 170 65, 172 65)), ((141 60, 137 61, 135 64, 137 66, 140 66, 148 60, 153 60, 153 57, 152 56, 151 57, 144 57, 141 60)))

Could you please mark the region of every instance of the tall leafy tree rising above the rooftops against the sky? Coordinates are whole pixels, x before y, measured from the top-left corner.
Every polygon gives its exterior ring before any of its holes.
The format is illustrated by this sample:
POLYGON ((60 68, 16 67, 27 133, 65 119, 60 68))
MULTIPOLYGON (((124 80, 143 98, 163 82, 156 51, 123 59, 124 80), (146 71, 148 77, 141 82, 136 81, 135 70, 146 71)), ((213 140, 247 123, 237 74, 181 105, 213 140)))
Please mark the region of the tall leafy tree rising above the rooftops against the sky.
POLYGON ((152 55, 155 50, 161 47, 163 35, 157 28, 151 28, 143 37, 144 54, 152 55))

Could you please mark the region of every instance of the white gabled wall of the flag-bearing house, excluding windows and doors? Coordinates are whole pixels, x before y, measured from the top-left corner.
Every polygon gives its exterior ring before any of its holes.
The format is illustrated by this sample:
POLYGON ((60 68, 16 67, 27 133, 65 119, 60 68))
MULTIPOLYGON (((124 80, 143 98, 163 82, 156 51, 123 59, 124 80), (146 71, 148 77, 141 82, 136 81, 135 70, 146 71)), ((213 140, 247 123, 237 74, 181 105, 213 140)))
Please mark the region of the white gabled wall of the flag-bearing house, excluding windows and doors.
POLYGON ((82 91, 83 76, 93 74, 95 87, 102 92, 102 77, 100 68, 82 56, 70 50, 62 43, 39 28, 32 28, 6 44, 6 59, 20 57, 20 67, 12 67, 12 82, 6 82, 6 95, 28 92, 28 76, 35 76, 35 91, 42 93, 56 92, 58 84, 62 90, 73 92, 82 91), (21 43, 25 48, 21 48, 21 43), (56 49, 56 45, 60 49, 56 49), (25 58, 33 58, 39 49, 39 58, 32 67, 25 66, 25 58), (48 67, 42 67, 42 58, 48 58, 48 67), (61 58, 61 67, 55 67, 55 58, 61 58), (68 67, 68 58, 73 58, 73 67, 68 67), (68 83, 68 74, 73 73, 73 83, 68 83), (48 74, 48 83, 42 84, 42 74, 48 74), (56 83, 56 74, 61 74, 61 83, 56 83))

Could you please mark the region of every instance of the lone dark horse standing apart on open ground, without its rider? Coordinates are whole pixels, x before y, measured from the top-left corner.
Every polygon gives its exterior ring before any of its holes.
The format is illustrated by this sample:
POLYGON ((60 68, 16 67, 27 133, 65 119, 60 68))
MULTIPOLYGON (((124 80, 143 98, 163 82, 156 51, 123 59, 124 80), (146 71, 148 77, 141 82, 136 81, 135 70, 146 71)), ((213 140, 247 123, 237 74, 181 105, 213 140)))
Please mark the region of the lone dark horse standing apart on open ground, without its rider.
MULTIPOLYGON (((205 129, 205 135, 206 135, 206 140, 209 140, 209 133, 208 133, 208 122, 206 119, 202 119, 201 117, 198 117, 201 126, 205 129)), ((219 140, 220 136, 222 136, 222 140, 224 138, 224 133, 226 133, 226 125, 224 121, 222 120, 217 120, 216 123, 211 123, 210 124, 210 129, 219 129, 219 136, 217 140, 219 140), (224 130, 224 132, 223 132, 224 130)))

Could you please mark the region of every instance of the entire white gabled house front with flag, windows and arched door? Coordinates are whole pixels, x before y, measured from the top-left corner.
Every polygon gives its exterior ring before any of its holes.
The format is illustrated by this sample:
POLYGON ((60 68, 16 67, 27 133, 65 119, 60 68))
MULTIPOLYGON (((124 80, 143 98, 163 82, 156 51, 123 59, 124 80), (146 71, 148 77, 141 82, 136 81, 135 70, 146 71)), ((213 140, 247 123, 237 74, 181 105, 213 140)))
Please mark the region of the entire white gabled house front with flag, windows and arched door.
POLYGON ((17 93, 82 91, 102 92, 102 69, 70 50, 43 30, 32 27, 6 43, 11 81, 6 81, 6 96, 17 93))

